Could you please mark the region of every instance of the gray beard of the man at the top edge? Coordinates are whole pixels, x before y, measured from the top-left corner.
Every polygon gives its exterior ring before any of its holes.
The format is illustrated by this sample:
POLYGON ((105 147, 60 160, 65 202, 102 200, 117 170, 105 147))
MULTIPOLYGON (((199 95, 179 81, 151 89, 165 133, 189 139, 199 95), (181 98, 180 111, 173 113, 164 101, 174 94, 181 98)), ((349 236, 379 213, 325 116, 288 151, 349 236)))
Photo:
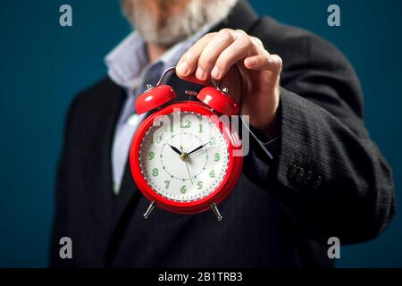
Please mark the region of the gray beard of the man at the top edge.
POLYGON ((148 43, 172 46, 195 34, 205 24, 214 25, 222 21, 237 2, 238 0, 188 0, 180 13, 167 12, 164 17, 155 19, 155 15, 144 4, 132 1, 130 5, 124 5, 124 13, 148 43))

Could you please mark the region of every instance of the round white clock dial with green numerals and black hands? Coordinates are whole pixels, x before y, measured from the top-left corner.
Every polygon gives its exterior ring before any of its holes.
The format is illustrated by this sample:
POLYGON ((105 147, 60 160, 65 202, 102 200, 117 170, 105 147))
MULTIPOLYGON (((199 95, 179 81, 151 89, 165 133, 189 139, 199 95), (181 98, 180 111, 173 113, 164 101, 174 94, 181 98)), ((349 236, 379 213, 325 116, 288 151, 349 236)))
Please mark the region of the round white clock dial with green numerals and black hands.
POLYGON ((188 202, 205 198, 220 185, 228 169, 229 151, 214 122, 200 114, 178 112, 147 130, 139 159, 152 189, 165 198, 188 202))

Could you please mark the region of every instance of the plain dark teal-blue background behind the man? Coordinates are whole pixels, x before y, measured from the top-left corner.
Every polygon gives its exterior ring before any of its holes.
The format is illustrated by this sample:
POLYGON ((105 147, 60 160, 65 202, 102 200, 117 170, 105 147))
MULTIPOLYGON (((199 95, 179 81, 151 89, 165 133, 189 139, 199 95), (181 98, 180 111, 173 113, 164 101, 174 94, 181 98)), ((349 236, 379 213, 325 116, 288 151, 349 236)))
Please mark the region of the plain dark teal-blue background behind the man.
MULTIPOLYGON (((348 56, 362 81, 366 125, 402 200, 402 1, 250 1, 260 14, 313 30, 348 56), (327 25, 339 4, 340 28, 327 25)), ((118 1, 0 2, 0 266, 47 265, 54 172, 72 97, 105 75, 104 56, 130 32, 118 1), (59 25, 71 4, 73 27, 59 25)), ((380 238, 341 248, 339 266, 402 266, 402 213, 380 238)))

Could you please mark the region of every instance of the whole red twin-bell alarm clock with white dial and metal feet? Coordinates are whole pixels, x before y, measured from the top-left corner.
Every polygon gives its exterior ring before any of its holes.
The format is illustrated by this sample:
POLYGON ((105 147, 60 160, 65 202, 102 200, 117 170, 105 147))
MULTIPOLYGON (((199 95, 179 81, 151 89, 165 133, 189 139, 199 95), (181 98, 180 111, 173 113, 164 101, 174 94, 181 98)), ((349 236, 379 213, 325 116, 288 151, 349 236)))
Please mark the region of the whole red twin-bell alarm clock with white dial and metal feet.
MULTIPOLYGON (((242 170, 241 141, 236 130, 220 118, 239 114, 239 105, 227 88, 186 91, 197 100, 169 104, 176 97, 163 79, 136 101, 137 114, 150 114, 140 124, 130 146, 130 169, 138 189, 151 201, 144 217, 155 206, 178 214, 212 209, 235 188, 242 170)), ((205 85, 192 77, 191 82, 205 85)))

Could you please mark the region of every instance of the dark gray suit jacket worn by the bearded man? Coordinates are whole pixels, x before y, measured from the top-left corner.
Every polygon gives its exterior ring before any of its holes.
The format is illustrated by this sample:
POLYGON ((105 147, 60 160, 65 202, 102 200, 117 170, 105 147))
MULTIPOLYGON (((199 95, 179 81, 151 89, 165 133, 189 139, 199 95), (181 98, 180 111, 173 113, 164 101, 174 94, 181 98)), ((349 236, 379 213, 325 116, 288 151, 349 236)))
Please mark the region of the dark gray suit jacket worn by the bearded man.
MULTIPOLYGON (((73 101, 67 116, 56 182, 51 265, 102 266, 330 266, 327 240, 375 238, 394 213, 389 165, 364 129, 362 92, 339 51, 303 29, 259 18, 243 1, 215 29, 244 29, 281 55, 281 139, 255 142, 243 175, 210 212, 170 214, 148 201, 127 165, 113 194, 113 130, 126 97, 105 78, 73 101), (73 259, 59 257, 71 237, 73 259)), ((172 78, 182 92, 199 88, 172 78)))

